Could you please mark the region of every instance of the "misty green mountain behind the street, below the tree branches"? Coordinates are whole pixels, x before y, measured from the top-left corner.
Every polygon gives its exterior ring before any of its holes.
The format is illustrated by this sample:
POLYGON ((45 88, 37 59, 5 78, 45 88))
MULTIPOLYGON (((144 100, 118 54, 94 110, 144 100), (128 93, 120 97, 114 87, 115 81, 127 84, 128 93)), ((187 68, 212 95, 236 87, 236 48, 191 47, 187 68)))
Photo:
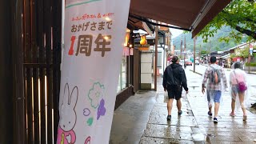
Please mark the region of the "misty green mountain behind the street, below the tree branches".
MULTIPOLYGON (((206 51, 223 51, 228 50, 234 46, 238 46, 241 43, 234 42, 233 39, 230 42, 219 42, 218 38, 225 37, 230 34, 230 26, 222 26, 221 30, 218 30, 216 34, 214 34, 214 38, 209 38, 210 42, 203 42, 202 37, 198 37, 196 41, 196 50, 198 51, 201 46, 201 50, 206 51), (211 49, 210 49, 211 48, 211 49)), ((181 38, 183 38, 184 45, 184 36, 186 37, 186 50, 194 49, 194 40, 192 39, 191 33, 180 34, 178 37, 174 38, 173 45, 175 46, 175 50, 180 50, 181 48, 181 38), (183 36, 182 36, 183 35, 183 36)), ((246 42, 246 38, 242 39, 242 43, 246 42)))

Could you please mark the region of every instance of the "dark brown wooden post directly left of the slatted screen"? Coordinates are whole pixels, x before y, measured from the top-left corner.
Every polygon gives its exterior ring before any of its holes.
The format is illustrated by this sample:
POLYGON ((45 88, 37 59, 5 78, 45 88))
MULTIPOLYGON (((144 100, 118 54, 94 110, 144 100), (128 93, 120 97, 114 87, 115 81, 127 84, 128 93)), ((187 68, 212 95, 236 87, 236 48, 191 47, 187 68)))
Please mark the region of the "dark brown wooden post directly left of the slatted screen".
POLYGON ((23 46, 22 31, 23 1, 11 0, 10 27, 11 27, 11 59, 12 59, 12 90, 14 104, 14 142, 25 144, 25 110, 24 110, 24 75, 23 75, 23 46))

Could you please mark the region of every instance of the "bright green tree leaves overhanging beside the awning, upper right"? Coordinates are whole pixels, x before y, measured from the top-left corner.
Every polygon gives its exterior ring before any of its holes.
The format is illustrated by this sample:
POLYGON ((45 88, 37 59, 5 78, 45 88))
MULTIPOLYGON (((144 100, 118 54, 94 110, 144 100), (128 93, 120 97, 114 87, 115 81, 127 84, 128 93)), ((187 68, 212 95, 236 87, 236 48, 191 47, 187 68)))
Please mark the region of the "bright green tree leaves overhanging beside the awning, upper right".
POLYGON ((212 22, 210 22, 198 35, 202 36, 204 42, 214 37, 222 26, 230 26, 230 34, 219 38, 220 41, 241 42, 256 40, 256 2, 250 0, 233 0, 212 22))

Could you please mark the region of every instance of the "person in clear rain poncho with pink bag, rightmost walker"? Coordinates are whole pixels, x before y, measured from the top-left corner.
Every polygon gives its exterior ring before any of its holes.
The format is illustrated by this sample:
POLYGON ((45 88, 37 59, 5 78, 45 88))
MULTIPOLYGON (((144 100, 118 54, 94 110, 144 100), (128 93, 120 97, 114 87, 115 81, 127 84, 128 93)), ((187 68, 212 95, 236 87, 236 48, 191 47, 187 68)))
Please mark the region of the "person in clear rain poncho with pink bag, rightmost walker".
POLYGON ((240 62, 234 62, 234 64, 231 66, 233 71, 230 72, 230 92, 231 92, 231 113, 230 116, 235 116, 234 114, 234 108, 235 105, 237 108, 242 108, 243 113, 243 120, 246 121, 247 115, 246 115, 246 106, 249 103, 249 95, 247 93, 247 78, 246 78, 246 72, 244 70, 241 70, 241 63, 240 62))

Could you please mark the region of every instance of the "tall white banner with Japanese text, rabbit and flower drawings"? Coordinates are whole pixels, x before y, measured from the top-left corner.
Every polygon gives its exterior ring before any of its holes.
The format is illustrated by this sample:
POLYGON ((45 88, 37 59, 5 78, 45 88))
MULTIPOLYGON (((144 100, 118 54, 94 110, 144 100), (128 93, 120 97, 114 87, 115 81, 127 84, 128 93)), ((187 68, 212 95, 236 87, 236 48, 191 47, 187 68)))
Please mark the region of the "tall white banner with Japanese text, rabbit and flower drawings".
POLYGON ((130 0, 66 0, 58 144, 109 143, 130 0))

